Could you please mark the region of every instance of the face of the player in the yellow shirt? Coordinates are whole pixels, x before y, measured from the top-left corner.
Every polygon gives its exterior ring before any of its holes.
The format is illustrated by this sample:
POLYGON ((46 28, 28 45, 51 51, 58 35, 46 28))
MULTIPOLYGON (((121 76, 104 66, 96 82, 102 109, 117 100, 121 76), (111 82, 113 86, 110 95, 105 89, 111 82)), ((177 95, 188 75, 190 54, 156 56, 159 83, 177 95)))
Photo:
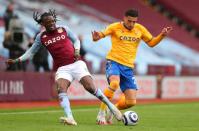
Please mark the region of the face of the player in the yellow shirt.
POLYGON ((131 16, 125 16, 124 17, 124 25, 127 27, 129 30, 131 30, 135 23, 137 22, 137 17, 131 17, 131 16))

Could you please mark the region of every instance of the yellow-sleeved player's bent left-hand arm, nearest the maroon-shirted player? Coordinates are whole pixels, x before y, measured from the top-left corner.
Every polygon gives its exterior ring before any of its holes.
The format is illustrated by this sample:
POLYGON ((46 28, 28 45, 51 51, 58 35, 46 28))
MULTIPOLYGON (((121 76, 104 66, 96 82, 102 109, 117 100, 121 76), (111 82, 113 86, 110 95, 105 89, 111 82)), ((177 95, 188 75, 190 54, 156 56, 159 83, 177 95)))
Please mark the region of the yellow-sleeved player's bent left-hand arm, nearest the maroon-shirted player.
POLYGON ((104 38, 108 35, 111 35, 112 33, 113 33, 112 25, 108 26, 104 31, 97 32, 97 31, 94 30, 94 31, 91 32, 93 41, 98 41, 101 38, 104 38))

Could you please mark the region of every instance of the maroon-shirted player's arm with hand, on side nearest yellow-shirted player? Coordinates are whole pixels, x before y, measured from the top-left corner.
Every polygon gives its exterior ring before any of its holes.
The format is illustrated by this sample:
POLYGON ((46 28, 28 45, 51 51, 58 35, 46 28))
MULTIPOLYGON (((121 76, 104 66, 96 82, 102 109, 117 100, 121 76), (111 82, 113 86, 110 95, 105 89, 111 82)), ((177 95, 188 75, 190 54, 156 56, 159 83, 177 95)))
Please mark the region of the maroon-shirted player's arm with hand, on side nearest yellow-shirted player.
POLYGON ((80 41, 78 37, 68 27, 65 27, 65 29, 67 31, 68 38, 72 41, 75 48, 75 59, 78 60, 80 57, 80 41))

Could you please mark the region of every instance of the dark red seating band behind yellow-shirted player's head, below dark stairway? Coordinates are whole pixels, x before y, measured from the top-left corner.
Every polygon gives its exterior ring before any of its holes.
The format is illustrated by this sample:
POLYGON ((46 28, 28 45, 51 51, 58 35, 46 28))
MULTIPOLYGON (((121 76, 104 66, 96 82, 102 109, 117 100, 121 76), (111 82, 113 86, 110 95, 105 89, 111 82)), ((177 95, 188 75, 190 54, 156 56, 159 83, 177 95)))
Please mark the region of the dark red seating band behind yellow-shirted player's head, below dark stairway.
MULTIPOLYGON (((165 26, 172 26, 173 32, 170 37, 183 43, 184 45, 199 51, 199 40, 191 36, 187 31, 171 22, 160 13, 146 6, 140 0, 74 0, 79 4, 93 7, 103 13, 115 18, 122 19, 123 13, 130 8, 137 8, 140 12, 139 23, 145 25, 154 35, 157 35, 165 26)), ((166 0, 165 0, 166 1, 166 0)), ((171 0, 170 0, 171 1, 171 0)), ((178 3, 178 2, 176 2, 178 3)), ((96 14, 97 15, 97 14, 96 14)))

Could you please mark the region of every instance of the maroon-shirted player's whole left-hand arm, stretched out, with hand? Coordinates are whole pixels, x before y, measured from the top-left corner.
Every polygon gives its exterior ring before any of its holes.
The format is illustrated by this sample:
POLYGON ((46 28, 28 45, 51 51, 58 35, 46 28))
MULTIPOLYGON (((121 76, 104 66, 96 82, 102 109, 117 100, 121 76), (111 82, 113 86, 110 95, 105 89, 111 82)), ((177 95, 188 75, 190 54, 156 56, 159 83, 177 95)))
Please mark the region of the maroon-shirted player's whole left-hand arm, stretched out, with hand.
POLYGON ((6 63, 8 65, 14 64, 14 63, 19 63, 21 61, 25 61, 27 59, 32 59, 32 57, 34 56, 34 54, 39 50, 39 48, 41 47, 41 41, 40 41, 40 34, 37 35, 33 45, 19 58, 17 59, 8 59, 6 61, 6 63))

